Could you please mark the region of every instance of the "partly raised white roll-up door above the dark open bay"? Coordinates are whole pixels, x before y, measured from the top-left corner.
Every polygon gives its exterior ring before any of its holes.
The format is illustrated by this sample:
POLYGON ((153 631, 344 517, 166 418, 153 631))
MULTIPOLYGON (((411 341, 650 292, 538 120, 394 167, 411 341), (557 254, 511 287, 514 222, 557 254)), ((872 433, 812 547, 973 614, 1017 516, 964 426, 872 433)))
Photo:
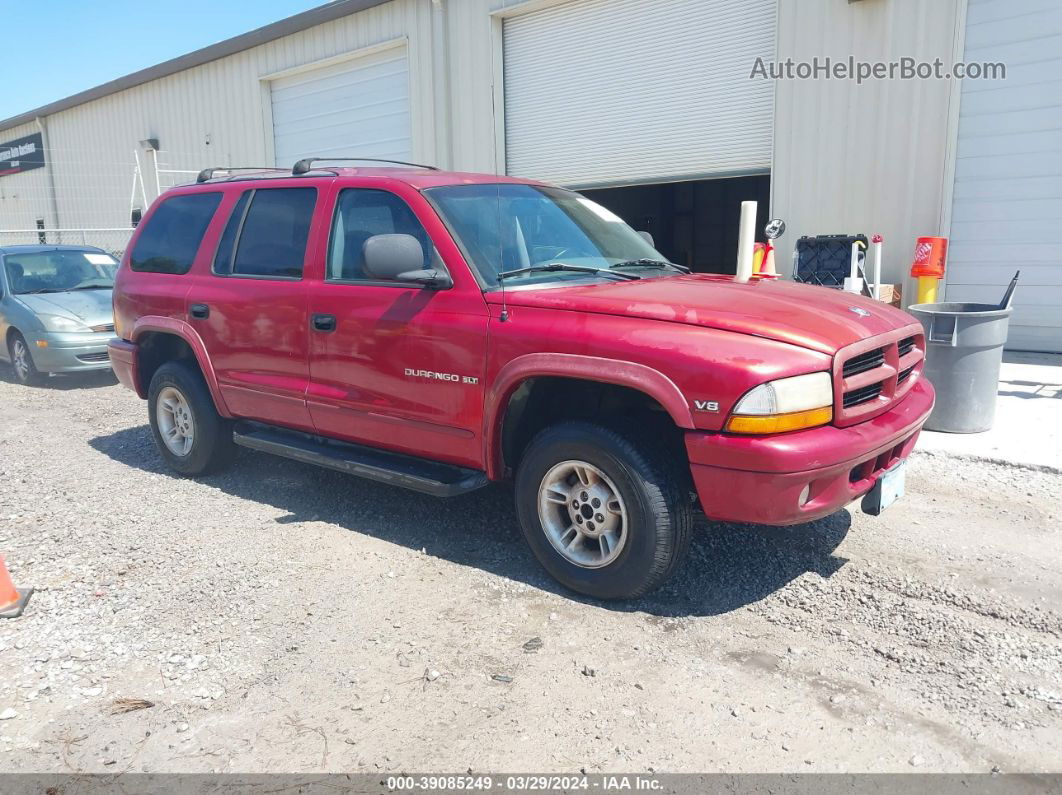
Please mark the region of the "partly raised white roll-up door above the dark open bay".
POLYGON ((503 20, 506 165, 565 185, 765 173, 777 0, 572 0, 503 20))

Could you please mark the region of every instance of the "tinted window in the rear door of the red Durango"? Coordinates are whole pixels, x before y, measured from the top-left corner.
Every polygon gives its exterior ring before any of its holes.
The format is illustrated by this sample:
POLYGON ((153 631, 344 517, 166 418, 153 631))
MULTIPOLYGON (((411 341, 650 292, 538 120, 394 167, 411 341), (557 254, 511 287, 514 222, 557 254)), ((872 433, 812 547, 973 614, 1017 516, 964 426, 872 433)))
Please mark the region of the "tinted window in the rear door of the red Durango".
POLYGON ((244 193, 218 244, 215 273, 302 278, 316 198, 315 188, 266 188, 244 193))

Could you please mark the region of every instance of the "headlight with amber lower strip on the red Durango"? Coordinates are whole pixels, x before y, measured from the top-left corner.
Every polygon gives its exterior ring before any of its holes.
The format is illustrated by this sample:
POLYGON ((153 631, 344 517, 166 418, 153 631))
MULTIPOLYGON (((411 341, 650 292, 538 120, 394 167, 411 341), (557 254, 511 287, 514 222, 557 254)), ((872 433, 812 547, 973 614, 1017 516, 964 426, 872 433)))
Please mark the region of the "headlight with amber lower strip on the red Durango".
POLYGON ((726 430, 783 433, 825 425, 834 418, 834 382, 828 373, 768 381, 737 401, 726 430))

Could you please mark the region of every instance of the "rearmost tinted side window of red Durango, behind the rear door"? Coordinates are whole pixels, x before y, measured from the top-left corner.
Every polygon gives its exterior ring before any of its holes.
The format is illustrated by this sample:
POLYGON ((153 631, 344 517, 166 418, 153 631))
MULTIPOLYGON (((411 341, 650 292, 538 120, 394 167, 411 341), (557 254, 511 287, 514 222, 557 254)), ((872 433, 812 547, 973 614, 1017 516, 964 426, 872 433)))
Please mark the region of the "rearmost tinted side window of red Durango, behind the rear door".
POLYGON ((189 193, 164 201, 140 230, 130 255, 130 267, 149 273, 188 273, 220 202, 221 193, 189 193))

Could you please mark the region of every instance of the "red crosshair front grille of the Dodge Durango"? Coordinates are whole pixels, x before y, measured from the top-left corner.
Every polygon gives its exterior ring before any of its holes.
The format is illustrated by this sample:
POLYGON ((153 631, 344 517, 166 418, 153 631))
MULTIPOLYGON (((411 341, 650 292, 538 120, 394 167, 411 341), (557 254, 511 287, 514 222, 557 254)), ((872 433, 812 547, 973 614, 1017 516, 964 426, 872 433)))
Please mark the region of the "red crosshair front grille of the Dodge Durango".
POLYGON ((887 411, 911 388, 922 367, 921 333, 893 331, 841 350, 834 365, 834 422, 846 427, 887 411), (867 345, 876 347, 867 350, 867 345), (860 349, 861 348, 861 349, 860 349))

